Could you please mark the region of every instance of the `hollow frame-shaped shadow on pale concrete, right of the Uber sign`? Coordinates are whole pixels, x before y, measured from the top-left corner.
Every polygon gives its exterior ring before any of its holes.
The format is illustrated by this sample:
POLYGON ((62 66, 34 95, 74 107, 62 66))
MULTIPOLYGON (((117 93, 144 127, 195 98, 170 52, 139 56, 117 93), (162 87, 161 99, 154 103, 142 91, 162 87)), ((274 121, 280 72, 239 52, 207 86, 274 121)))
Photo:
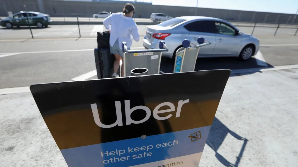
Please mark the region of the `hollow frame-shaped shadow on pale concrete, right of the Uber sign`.
MULTIPOLYGON (((238 167, 247 142, 248 142, 248 140, 246 138, 243 138, 243 137, 239 136, 238 134, 236 134, 235 132, 229 130, 228 127, 226 127, 222 122, 220 122, 215 117, 214 120, 213 120, 213 124, 211 126, 211 129, 210 129, 209 136, 208 136, 206 144, 210 148, 213 149, 213 151, 215 152, 215 157, 224 166, 238 167), (243 145, 242 145, 242 147, 239 151, 239 155, 236 157, 237 160, 234 164, 232 162, 229 162, 228 160, 226 160, 226 158, 223 155, 221 155, 217 152, 219 147, 221 146, 221 144, 223 143, 224 139, 226 138, 226 136, 228 134, 232 135, 234 138, 236 138, 240 141, 243 141, 243 145)), ((236 151, 238 151, 238 150, 236 150, 236 151)))

